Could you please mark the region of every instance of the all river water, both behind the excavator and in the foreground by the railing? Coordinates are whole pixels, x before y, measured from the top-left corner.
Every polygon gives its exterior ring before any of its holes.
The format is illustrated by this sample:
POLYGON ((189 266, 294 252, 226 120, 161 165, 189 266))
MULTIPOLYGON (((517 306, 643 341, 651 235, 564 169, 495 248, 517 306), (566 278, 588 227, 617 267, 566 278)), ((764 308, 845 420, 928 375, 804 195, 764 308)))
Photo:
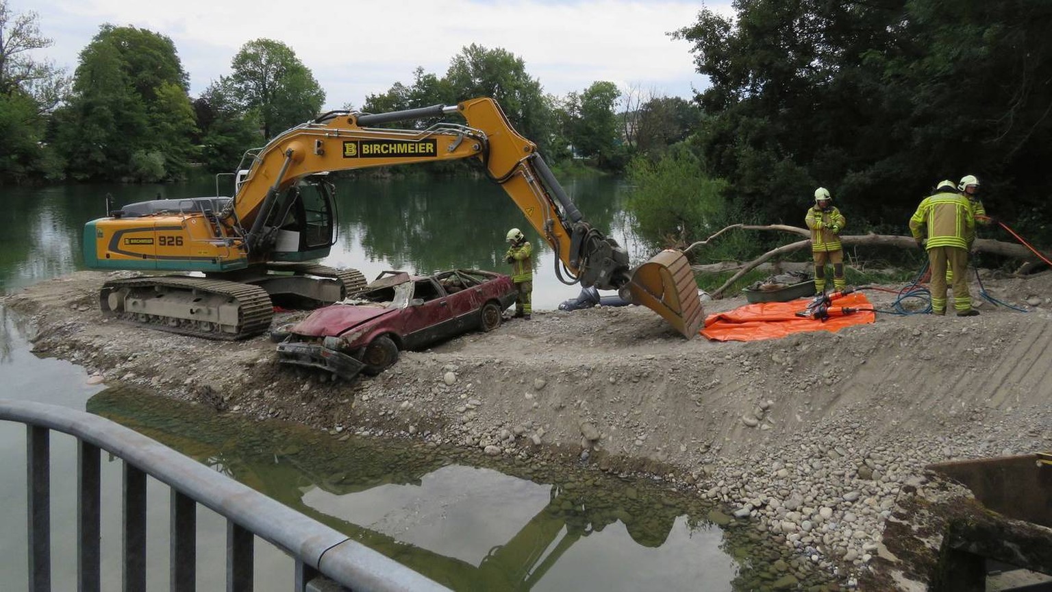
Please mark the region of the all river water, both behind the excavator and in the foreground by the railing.
MULTIPOLYGON (((0 235, 5 292, 81 269, 84 222, 117 204, 214 195, 214 181, 64 185, 5 192, 14 215, 0 235)), ((631 240, 623 188, 607 178, 567 183, 586 219, 631 240)), ((540 249, 534 308, 576 295, 554 277, 550 249, 486 180, 341 180, 340 238, 325 262, 381 271, 450 267, 501 271, 504 235, 527 231, 540 249)), ((118 420, 309 514, 458 590, 747 590, 741 530, 660 484, 595 471, 494 463, 454 451, 351 439, 286 423, 245 422, 145 392, 102 390, 83 369, 29 352, 32 328, 0 309, 0 397, 87 409, 118 420)), ((0 423, 0 581, 25 580, 25 430, 0 423)), ((75 448, 53 436, 55 589, 74 589, 75 448)), ((105 458, 104 458, 105 460, 105 458)), ((104 461, 103 589, 119 589, 120 462, 104 461), (109 517, 110 519, 106 519, 109 517)), ((148 481, 148 587, 167 588, 167 488, 148 481)), ((199 510, 199 589, 222 587, 223 520, 199 510)), ((752 529, 748 529, 751 531, 752 529)), ((752 538, 755 538, 754 534, 752 538)), ((291 560, 257 540, 256 589, 288 590, 291 560)), ((6 588, 6 586, 4 587, 6 588)), ((21 589, 15 585, 12 589, 21 589)))

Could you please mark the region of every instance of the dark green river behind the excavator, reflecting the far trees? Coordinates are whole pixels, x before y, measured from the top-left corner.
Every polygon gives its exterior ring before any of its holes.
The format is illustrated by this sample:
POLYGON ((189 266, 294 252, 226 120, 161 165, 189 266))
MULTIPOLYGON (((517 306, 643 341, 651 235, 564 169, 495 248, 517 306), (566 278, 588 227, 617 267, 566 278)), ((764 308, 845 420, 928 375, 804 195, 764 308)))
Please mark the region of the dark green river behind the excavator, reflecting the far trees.
MULTIPOLYGON (((325 259, 328 264, 359 269, 369 279, 392 269, 430 273, 459 267, 507 272, 504 237, 508 229, 521 228, 537 248, 534 309, 552 310, 578 295, 578 287, 563 285, 555 277, 555 259, 548 244, 528 226, 503 190, 487 179, 408 176, 337 179, 336 184, 340 236, 325 259)), ((649 255, 628 230, 619 180, 575 179, 566 181, 565 189, 585 218, 626 245, 633 261, 649 255)), ((5 194, 5 204, 13 223, 0 233, 0 292, 83 269, 84 223, 103 215, 107 194, 119 206, 158 197, 215 193, 210 176, 163 185, 12 189, 5 194)))

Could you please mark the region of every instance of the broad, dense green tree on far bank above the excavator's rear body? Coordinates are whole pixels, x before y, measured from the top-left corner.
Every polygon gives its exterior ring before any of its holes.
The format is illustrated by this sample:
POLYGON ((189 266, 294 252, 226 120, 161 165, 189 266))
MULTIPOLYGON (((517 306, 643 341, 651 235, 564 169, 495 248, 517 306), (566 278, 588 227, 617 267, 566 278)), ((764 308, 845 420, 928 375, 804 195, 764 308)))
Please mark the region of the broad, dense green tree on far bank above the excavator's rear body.
POLYGON ((57 138, 77 179, 179 177, 193 155, 186 73, 167 37, 104 24, 80 54, 57 138))

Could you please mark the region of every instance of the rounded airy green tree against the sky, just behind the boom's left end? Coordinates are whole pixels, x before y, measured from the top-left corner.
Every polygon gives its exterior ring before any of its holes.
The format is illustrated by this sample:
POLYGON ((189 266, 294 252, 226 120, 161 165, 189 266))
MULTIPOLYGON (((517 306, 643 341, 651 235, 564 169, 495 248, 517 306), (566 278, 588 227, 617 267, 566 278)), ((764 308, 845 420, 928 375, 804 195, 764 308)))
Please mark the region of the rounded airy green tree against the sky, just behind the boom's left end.
POLYGON ((313 119, 325 92, 288 45, 256 39, 241 46, 230 62, 226 92, 243 112, 256 111, 263 139, 313 119))

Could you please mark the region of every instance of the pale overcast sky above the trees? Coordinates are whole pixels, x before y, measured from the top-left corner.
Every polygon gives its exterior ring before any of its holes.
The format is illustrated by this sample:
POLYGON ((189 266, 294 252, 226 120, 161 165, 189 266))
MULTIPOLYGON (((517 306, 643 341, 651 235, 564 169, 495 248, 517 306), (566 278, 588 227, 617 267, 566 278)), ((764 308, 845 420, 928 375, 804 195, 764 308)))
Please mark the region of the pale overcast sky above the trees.
POLYGON ((55 44, 38 57, 69 74, 100 25, 134 25, 175 42, 198 96, 229 74, 246 41, 265 37, 296 52, 328 108, 361 106, 368 94, 409 84, 417 66, 444 76, 471 43, 522 58, 545 93, 563 96, 609 80, 622 90, 691 98, 705 79, 689 43, 667 34, 693 24, 703 4, 729 13, 729 0, 7 0, 15 13, 39 15, 41 34, 55 44))

